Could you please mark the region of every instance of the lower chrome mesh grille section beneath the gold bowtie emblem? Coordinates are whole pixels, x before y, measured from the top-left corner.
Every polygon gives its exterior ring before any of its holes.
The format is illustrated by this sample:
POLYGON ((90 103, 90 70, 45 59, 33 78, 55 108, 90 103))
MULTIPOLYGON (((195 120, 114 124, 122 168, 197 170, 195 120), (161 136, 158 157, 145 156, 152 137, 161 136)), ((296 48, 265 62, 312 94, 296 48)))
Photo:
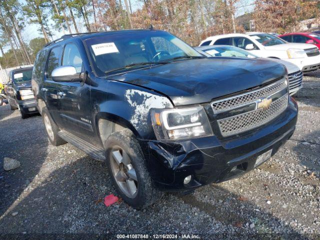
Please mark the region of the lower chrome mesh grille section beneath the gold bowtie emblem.
POLYGON ((288 93, 273 101, 267 108, 258 108, 253 111, 218 120, 222 136, 241 133, 263 125, 274 119, 287 107, 288 93))

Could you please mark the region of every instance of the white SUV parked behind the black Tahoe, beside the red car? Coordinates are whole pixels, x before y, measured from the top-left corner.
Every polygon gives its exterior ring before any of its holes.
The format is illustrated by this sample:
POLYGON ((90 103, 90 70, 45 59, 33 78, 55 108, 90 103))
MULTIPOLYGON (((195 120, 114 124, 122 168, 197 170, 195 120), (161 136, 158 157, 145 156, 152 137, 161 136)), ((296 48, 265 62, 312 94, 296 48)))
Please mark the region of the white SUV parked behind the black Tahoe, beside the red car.
POLYGON ((249 50, 260 57, 280 58, 297 65, 301 71, 320 68, 320 51, 312 44, 288 43, 269 33, 249 32, 209 36, 203 45, 233 45, 249 50))

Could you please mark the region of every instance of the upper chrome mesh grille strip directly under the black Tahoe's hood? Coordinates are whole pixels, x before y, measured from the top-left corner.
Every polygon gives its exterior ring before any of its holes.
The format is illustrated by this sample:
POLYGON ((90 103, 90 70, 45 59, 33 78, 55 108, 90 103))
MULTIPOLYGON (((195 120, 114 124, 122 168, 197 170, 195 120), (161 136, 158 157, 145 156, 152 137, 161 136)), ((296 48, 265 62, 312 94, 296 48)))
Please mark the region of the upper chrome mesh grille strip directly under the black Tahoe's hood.
POLYGON ((286 80, 285 78, 283 78, 277 82, 274 82, 257 90, 214 101, 211 103, 211 107, 215 114, 223 111, 228 111, 241 105, 252 103, 253 101, 260 99, 261 97, 267 97, 279 90, 282 90, 285 87, 286 80))

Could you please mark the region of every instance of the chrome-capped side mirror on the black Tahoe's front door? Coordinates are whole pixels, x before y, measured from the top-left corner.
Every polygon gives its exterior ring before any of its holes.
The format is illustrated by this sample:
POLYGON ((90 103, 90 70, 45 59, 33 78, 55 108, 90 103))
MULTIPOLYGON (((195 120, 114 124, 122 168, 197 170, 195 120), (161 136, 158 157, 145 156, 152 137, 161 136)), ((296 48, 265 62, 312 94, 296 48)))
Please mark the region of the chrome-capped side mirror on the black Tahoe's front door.
POLYGON ((76 82, 82 81, 82 73, 77 73, 74 66, 65 65, 58 66, 53 69, 51 77, 53 81, 57 82, 76 82))

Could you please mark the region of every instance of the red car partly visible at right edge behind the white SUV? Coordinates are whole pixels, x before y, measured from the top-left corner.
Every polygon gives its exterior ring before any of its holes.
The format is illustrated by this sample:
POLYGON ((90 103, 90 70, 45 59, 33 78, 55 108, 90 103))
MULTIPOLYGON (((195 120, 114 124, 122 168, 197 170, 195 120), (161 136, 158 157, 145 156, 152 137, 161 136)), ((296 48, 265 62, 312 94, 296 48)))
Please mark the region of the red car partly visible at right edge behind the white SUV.
POLYGON ((313 32, 294 32, 279 35, 283 40, 288 42, 310 43, 320 49, 320 34, 313 32))

